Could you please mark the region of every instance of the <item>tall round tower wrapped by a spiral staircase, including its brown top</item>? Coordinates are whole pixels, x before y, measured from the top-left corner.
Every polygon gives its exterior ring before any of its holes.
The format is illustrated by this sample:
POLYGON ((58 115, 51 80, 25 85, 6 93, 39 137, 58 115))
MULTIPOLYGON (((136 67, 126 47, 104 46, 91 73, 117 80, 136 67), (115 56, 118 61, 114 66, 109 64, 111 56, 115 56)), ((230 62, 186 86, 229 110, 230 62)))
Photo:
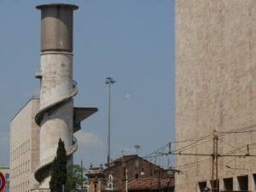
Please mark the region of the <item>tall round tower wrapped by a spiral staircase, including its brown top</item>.
POLYGON ((73 108, 78 88, 73 81, 73 10, 71 4, 39 5, 41 10, 41 79, 40 110, 36 122, 40 126, 40 162, 35 177, 41 189, 49 189, 50 167, 55 158, 59 138, 65 143, 67 164, 73 164, 78 145, 73 133, 80 122, 96 108, 73 108))

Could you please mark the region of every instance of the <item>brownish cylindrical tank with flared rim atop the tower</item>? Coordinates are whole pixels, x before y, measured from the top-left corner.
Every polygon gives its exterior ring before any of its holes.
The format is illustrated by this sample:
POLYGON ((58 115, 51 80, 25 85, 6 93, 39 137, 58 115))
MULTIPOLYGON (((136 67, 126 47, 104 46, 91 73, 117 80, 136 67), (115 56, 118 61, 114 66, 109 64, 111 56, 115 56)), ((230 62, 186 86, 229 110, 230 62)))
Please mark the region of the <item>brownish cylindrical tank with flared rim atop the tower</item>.
POLYGON ((71 4, 43 4, 41 9, 41 51, 73 51, 73 10, 71 4))

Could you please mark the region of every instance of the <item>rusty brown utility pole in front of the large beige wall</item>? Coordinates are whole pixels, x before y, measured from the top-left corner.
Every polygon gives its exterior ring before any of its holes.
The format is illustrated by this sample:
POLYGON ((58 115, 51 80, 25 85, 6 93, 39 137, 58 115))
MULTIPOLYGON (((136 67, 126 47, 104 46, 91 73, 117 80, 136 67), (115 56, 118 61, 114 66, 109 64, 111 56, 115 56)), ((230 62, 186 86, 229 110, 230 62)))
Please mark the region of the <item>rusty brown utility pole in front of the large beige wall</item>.
POLYGON ((218 192, 218 136, 215 133, 214 130, 212 141, 212 192, 218 192))

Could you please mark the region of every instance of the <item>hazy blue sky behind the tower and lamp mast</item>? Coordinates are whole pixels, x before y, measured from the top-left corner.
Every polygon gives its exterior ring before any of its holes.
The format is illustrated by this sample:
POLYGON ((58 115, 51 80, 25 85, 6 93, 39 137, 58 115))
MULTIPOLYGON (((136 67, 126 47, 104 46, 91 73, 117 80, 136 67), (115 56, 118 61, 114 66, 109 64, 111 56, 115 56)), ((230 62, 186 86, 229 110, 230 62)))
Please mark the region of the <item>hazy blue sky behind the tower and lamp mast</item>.
MULTIPOLYGON (((38 95, 40 11, 49 0, 0 1, 0 165, 9 165, 9 121, 38 95)), ((111 157, 146 155, 174 140, 174 0, 73 0, 73 79, 82 123, 74 163, 107 161, 108 86, 113 77, 111 157)))

